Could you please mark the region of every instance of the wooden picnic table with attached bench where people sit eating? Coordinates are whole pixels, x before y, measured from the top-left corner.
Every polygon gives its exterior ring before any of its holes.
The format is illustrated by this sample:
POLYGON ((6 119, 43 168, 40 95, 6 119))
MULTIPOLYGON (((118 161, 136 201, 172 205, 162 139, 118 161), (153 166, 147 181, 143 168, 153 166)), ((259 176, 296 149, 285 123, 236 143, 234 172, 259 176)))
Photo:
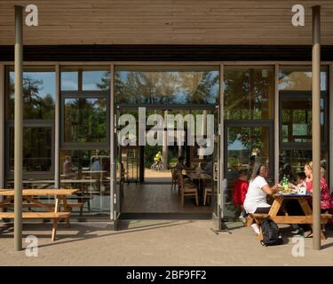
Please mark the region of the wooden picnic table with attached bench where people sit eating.
MULTIPOLYGON (((251 225, 253 221, 257 224, 260 224, 261 221, 269 217, 276 224, 309 224, 311 227, 313 226, 313 210, 311 209, 308 200, 312 198, 312 195, 307 194, 297 194, 297 193, 275 193, 273 195, 274 202, 272 204, 271 209, 268 214, 258 214, 258 213, 250 213, 250 217, 248 219, 248 225, 251 225), (289 200, 297 200, 301 209, 303 210, 303 216, 290 216, 287 209, 284 207, 285 203, 289 200), (284 215, 278 215, 279 212, 283 212, 284 215)), ((327 224, 330 214, 321 214, 321 224, 327 224)), ((260 236, 259 236, 260 237, 260 236)), ((321 239, 326 240, 325 234, 321 231, 321 239)))

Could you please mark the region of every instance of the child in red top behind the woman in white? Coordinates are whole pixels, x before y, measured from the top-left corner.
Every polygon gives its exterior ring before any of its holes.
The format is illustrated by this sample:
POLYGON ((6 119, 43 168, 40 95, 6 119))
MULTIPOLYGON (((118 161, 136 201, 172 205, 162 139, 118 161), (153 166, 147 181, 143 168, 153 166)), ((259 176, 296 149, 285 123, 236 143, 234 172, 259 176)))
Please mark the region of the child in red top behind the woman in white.
POLYGON ((242 206, 245 201, 246 193, 248 193, 249 181, 248 173, 246 170, 240 170, 238 172, 238 179, 234 183, 234 204, 241 210, 240 219, 243 223, 246 221, 246 213, 242 206))

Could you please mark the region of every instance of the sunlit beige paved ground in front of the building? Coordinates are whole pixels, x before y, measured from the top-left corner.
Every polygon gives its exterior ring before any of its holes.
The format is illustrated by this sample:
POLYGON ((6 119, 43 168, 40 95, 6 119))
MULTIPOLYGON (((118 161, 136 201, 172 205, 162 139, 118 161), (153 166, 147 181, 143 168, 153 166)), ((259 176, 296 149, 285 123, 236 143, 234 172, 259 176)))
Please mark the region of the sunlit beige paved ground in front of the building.
MULTIPOLYGON (((332 265, 333 232, 321 251, 305 241, 305 256, 292 256, 289 243, 262 247, 250 227, 231 224, 231 233, 213 233, 212 221, 131 221, 123 230, 112 224, 77 223, 59 226, 59 240, 50 240, 51 225, 25 225, 24 234, 38 237, 37 257, 13 251, 12 226, 3 225, 0 235, 2 265, 332 265)), ((24 243, 24 246, 26 244, 24 243)))

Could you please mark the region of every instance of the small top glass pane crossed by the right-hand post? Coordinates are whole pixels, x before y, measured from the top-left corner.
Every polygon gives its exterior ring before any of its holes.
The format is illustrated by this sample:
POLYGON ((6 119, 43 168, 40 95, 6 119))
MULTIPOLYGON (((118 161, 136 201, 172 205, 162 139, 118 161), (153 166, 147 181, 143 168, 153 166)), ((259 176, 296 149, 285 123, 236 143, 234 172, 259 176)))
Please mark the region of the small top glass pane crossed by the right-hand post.
MULTIPOLYGON (((282 67, 279 74, 280 91, 312 91, 312 67, 282 67)), ((328 68, 321 67, 321 91, 328 90, 328 68)))

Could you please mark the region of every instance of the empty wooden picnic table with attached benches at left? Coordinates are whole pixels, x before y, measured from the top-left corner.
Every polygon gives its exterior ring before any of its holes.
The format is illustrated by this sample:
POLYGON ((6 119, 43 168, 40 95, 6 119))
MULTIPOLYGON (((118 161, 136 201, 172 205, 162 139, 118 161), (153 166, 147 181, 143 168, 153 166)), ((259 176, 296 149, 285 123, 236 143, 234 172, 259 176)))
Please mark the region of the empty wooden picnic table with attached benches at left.
MULTIPOLYGON (((77 193, 77 189, 23 189, 22 199, 28 201, 28 205, 44 209, 44 212, 23 212, 22 217, 27 219, 52 219, 52 241, 55 240, 58 221, 65 219, 67 226, 69 226, 69 217, 71 207, 67 203, 67 195, 77 193), (44 203, 36 199, 37 196, 54 196, 55 203, 44 203), (60 207, 63 206, 63 211, 60 212, 60 207)), ((0 196, 4 196, 4 200, 0 201, 0 207, 6 205, 13 205, 14 190, 13 189, 0 189, 0 196)), ((14 212, 0 212, 1 218, 13 218, 14 212)))

